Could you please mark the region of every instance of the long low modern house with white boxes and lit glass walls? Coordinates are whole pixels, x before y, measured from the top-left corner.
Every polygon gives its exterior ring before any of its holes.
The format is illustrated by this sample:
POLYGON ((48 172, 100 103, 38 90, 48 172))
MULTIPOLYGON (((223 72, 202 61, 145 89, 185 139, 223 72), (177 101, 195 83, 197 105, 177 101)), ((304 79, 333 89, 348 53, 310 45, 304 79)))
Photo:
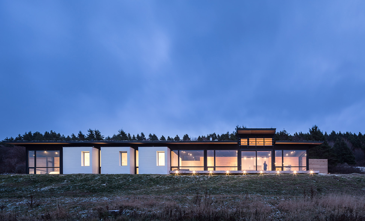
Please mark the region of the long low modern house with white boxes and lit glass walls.
POLYGON ((237 141, 11 141, 29 174, 196 174, 310 171, 323 141, 274 141, 275 128, 238 129, 237 141))

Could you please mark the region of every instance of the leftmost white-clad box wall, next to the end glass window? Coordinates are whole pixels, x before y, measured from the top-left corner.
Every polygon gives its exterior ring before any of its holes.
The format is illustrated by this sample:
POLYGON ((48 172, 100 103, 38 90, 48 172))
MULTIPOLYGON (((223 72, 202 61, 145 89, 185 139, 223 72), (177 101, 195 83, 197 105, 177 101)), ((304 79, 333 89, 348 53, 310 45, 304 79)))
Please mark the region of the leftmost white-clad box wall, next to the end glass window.
POLYGON ((64 174, 98 174, 99 150, 94 147, 63 147, 64 174), (89 151, 90 166, 81 166, 82 151, 89 151))

